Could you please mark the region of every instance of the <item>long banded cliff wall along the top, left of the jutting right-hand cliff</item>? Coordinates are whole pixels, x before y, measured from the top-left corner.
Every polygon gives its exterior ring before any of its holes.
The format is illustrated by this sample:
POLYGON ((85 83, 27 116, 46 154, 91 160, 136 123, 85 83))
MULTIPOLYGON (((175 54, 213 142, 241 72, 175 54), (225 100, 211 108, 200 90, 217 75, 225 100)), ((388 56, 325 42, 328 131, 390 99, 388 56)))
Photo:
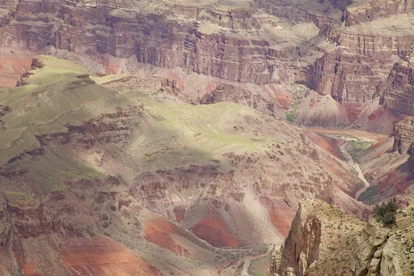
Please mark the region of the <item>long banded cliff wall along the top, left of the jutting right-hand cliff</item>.
POLYGON ((304 27, 306 33, 290 23, 275 28, 279 20, 248 1, 201 7, 173 1, 20 1, 9 8, 12 16, 0 38, 6 52, 53 52, 108 73, 129 70, 120 60, 134 57, 233 81, 304 81, 306 68, 302 72, 291 62, 298 58, 295 45, 317 35, 315 26, 304 27), (111 57, 118 58, 115 64, 111 57))

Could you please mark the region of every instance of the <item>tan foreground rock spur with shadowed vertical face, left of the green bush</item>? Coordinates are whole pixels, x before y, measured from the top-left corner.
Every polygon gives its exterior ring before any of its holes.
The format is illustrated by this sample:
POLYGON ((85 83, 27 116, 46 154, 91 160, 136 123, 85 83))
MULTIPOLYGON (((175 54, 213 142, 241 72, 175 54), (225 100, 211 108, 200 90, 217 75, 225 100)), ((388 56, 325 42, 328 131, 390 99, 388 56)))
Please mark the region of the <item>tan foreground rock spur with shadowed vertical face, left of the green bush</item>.
POLYGON ((359 219, 344 215, 323 201, 302 200, 281 249, 279 267, 274 265, 270 275, 351 272, 351 239, 362 227, 359 219))

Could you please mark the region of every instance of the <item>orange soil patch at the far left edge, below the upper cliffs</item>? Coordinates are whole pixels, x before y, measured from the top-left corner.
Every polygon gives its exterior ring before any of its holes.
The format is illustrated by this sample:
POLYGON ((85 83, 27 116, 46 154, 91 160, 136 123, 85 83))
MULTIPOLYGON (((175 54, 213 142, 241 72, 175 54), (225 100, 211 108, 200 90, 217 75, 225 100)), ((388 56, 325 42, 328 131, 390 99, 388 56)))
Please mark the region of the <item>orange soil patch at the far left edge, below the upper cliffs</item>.
POLYGON ((30 69, 31 58, 0 58, 0 87, 14 87, 23 72, 30 69))

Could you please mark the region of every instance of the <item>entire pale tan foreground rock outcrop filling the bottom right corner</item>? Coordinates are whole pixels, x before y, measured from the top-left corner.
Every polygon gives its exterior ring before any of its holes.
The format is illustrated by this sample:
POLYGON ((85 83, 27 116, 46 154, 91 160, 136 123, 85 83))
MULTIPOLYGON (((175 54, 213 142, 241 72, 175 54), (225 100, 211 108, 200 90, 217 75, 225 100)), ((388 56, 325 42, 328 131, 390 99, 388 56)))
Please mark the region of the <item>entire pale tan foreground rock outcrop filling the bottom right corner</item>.
POLYGON ((274 254, 268 275, 411 275, 411 221, 409 208, 397 214, 395 226, 384 227, 375 219, 362 222, 336 213, 321 201, 302 201, 285 242, 287 247, 282 248, 282 255, 274 254), (312 213, 306 214, 306 209, 312 213), (329 209, 331 215, 327 216, 329 209), (311 221, 318 221, 318 227, 311 221), (306 248, 298 247, 299 243, 306 248))

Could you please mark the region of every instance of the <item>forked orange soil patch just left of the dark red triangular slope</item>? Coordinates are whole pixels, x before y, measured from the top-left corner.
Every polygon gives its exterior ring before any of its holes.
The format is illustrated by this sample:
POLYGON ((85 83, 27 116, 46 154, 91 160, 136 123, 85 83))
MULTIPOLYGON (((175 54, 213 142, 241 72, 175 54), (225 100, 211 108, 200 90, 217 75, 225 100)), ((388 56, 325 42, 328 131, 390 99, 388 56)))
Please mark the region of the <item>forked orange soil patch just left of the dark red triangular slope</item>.
POLYGON ((190 255, 188 249, 175 242, 170 234, 187 238, 186 233, 163 217, 146 221, 144 224, 144 239, 174 253, 188 257, 190 255))

